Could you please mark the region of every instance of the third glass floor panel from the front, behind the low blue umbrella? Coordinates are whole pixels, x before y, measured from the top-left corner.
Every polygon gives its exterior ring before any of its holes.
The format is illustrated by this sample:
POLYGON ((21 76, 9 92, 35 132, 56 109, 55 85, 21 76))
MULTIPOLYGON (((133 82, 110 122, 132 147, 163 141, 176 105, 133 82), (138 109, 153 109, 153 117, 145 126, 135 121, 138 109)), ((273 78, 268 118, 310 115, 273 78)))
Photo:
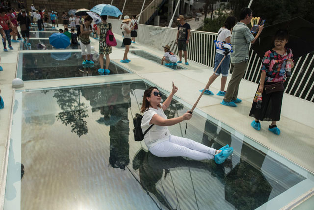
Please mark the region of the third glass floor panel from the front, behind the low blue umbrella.
MULTIPOLYGON (((31 44, 30 46, 27 44, 24 44, 23 42, 21 42, 20 44, 20 50, 59 50, 57 48, 54 48, 50 43, 49 43, 49 39, 29 39, 29 43, 31 44), (39 45, 39 44, 43 44, 43 45, 39 45)), ((67 50, 69 49, 80 49, 80 45, 69 45, 67 48, 65 48, 67 50)), ((63 50, 63 49, 62 49, 63 50)))

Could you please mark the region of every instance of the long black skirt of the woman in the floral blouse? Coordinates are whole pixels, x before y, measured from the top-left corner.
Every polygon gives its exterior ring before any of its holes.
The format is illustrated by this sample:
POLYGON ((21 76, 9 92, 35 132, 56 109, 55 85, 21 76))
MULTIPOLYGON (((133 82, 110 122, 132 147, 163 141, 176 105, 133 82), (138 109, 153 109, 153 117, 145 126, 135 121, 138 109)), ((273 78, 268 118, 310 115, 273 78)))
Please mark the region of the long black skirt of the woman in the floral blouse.
MULTIPOLYGON (((265 82, 265 85, 270 85, 270 84, 273 84, 273 83, 265 82)), ((265 90, 263 90, 262 96, 263 96, 263 99, 262 99, 261 109, 257 109, 256 108, 257 103, 253 102, 252 108, 250 111, 250 116, 260 121, 279 121, 284 91, 278 91, 278 92, 266 94, 265 90)))

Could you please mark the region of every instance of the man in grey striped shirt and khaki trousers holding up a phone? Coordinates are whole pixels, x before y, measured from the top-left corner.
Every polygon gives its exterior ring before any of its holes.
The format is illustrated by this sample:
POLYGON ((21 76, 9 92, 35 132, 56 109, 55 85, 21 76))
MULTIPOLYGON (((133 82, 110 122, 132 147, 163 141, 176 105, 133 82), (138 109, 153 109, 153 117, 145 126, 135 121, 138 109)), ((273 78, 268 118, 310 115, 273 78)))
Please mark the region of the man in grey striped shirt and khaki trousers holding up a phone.
POLYGON ((252 10, 250 8, 243 8, 241 10, 240 19, 240 22, 232 30, 231 45, 233 53, 230 54, 232 75, 225 97, 221 102, 222 105, 232 107, 236 107, 236 103, 242 101, 237 98, 237 94, 241 79, 247 67, 250 43, 254 44, 264 28, 264 25, 259 26, 258 33, 254 38, 250 29, 246 26, 252 19, 252 10))

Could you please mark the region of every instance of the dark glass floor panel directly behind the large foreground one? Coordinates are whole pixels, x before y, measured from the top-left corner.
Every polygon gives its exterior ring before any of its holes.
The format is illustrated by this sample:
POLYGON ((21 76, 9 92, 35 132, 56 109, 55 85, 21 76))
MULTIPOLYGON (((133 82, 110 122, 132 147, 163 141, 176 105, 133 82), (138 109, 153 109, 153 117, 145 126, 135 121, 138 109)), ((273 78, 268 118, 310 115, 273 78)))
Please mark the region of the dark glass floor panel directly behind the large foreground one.
MULTIPOLYGON (((17 78, 26 81, 97 76, 100 68, 99 55, 94 53, 92 60, 94 65, 82 65, 81 52, 20 53, 17 78)), ((109 70, 110 75, 131 73, 111 60, 109 70)))

